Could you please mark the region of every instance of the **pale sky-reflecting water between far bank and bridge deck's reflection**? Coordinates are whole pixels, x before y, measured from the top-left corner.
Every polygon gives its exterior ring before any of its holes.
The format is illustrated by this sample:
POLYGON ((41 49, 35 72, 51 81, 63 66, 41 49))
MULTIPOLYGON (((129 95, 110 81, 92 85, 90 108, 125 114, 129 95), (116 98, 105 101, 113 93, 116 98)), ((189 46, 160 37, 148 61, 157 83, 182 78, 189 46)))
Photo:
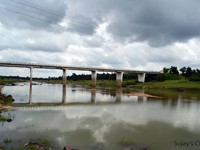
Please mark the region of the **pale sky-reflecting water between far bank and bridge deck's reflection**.
MULTIPOLYGON (((19 83, 16 86, 5 86, 4 94, 12 95, 14 103, 99 103, 117 102, 122 99, 122 89, 116 91, 86 89, 80 86, 19 83), (29 91, 28 91, 29 89, 29 91)), ((130 99, 130 98, 126 98, 130 99)))

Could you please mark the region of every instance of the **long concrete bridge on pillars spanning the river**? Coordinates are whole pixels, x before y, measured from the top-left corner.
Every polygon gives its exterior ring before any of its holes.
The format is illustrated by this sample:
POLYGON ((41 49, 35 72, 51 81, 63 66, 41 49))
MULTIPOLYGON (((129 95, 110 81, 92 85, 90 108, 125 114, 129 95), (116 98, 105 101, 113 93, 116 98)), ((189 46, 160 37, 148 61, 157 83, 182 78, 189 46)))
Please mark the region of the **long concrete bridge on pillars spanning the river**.
POLYGON ((18 63, 18 62, 0 62, 1 67, 20 67, 30 68, 30 85, 32 85, 33 69, 59 69, 63 70, 63 85, 67 82, 67 70, 77 71, 91 71, 92 86, 96 87, 97 72, 115 72, 117 87, 122 87, 123 73, 138 74, 138 82, 145 82, 146 74, 159 74, 158 71, 140 71, 132 69, 113 69, 113 68, 98 68, 98 67, 77 67, 77 66, 62 66, 62 65, 49 65, 49 64, 36 64, 36 63, 18 63))

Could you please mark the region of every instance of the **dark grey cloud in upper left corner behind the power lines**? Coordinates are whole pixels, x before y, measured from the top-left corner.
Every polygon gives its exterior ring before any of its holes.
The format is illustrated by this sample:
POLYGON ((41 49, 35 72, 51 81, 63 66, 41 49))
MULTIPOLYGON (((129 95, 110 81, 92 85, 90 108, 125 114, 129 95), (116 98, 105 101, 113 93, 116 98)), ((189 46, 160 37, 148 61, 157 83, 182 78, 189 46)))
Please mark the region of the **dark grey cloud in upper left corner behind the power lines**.
POLYGON ((0 22, 7 28, 46 30, 64 18, 66 9, 64 0, 0 0, 0 22))

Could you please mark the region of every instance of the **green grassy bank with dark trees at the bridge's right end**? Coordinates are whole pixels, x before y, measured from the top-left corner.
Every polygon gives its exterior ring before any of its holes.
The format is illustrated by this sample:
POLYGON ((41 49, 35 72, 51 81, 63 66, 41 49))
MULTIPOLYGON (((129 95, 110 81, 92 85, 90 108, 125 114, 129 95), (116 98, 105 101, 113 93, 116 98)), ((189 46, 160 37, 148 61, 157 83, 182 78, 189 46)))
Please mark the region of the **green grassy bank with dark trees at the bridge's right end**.
MULTIPOLYGON (((97 86, 116 87, 116 79, 113 74, 102 74, 97 78, 97 86)), ((91 85, 91 79, 80 80, 82 78, 79 75, 73 74, 70 79, 74 80, 68 80, 69 83, 91 85)), ((124 88, 200 89, 200 70, 191 67, 182 67, 178 70, 177 67, 171 66, 163 68, 159 75, 146 75, 145 83, 137 82, 135 74, 124 74, 122 86, 124 88)))

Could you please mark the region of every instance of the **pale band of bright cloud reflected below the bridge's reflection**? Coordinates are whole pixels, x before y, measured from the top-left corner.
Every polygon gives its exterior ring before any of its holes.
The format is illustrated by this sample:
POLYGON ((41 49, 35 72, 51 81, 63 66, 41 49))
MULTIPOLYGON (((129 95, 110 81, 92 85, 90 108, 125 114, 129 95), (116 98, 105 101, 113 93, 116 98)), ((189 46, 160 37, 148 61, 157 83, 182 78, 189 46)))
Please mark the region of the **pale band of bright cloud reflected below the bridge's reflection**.
POLYGON ((117 122, 145 125, 149 121, 155 120, 169 123, 174 127, 185 127, 190 131, 198 131, 200 126, 199 107, 198 103, 189 105, 177 103, 174 108, 171 107, 170 103, 162 105, 160 101, 156 101, 102 106, 79 105, 55 109, 36 108, 35 110, 16 111, 17 118, 15 120, 17 121, 19 118, 32 119, 34 124, 40 126, 39 130, 46 126, 60 131, 84 127, 90 128, 97 133, 103 133, 106 125, 109 126, 117 122), (47 124, 47 122, 49 123, 47 124), (103 126, 104 129, 101 129, 103 126))

